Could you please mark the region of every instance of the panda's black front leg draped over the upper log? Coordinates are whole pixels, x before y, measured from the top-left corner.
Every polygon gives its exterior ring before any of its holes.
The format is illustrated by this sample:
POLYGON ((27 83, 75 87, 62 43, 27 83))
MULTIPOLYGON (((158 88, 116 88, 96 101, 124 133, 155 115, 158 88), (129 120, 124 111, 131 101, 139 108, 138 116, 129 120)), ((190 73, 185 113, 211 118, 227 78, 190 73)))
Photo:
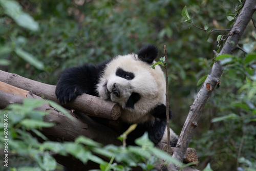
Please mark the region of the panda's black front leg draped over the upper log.
POLYGON ((63 71, 57 82, 55 94, 61 104, 73 101, 78 95, 95 94, 98 73, 94 65, 83 65, 63 71))

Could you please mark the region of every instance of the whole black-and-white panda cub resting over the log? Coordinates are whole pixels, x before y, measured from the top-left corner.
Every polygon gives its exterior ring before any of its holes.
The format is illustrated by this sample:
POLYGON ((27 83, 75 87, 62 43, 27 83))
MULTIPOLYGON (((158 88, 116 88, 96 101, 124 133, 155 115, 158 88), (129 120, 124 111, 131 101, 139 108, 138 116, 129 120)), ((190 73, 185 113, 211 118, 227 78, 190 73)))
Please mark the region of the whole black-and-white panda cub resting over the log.
MULTIPOLYGON (((119 131, 138 123, 127 144, 135 145, 134 140, 145 132, 155 145, 166 143, 165 77, 160 66, 151 68, 157 55, 157 48, 148 45, 137 54, 118 55, 96 66, 69 68, 60 74, 55 94, 62 104, 83 93, 119 103, 123 121, 119 131)), ((176 146, 177 141, 178 136, 170 129, 170 145, 176 146)))

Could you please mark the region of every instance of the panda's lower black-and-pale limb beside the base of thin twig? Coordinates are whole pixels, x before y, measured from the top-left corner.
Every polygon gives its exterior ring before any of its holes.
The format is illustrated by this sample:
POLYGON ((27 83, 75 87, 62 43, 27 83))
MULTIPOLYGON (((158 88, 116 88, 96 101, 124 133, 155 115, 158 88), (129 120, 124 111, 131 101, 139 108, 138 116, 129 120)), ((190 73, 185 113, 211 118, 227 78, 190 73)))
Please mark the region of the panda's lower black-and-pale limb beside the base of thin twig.
MULTIPOLYGON (((167 143, 167 127, 166 120, 156 118, 154 124, 148 129, 148 138, 155 145, 167 143)), ((175 147, 178 142, 178 136, 170 129, 170 146, 175 147)))

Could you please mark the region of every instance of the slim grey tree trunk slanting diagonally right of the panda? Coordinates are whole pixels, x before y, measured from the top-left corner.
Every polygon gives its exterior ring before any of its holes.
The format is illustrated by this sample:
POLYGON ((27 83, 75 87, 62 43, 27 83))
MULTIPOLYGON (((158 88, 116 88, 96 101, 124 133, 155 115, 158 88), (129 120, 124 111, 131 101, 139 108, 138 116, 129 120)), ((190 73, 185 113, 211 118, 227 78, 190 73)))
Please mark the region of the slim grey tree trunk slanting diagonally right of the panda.
MULTIPOLYGON (((255 0, 247 0, 244 4, 244 7, 239 14, 236 23, 233 25, 233 28, 229 32, 229 37, 227 38, 222 50, 221 54, 232 54, 236 49, 238 42, 248 25, 252 14, 255 11, 256 1, 255 0)), ((223 72, 220 61, 215 61, 214 65, 211 68, 210 73, 208 74, 205 82, 203 83, 202 88, 198 92, 198 95, 190 106, 190 110, 188 116, 186 118, 185 124, 181 131, 178 143, 176 145, 176 149, 173 154, 173 158, 183 161, 183 158, 186 154, 186 150, 188 144, 191 140, 193 132, 197 127, 197 122, 202 113, 204 105, 211 95, 212 91, 216 87, 216 85, 220 82, 220 76, 223 72)), ((177 168, 168 166, 168 170, 177 170, 177 168)))

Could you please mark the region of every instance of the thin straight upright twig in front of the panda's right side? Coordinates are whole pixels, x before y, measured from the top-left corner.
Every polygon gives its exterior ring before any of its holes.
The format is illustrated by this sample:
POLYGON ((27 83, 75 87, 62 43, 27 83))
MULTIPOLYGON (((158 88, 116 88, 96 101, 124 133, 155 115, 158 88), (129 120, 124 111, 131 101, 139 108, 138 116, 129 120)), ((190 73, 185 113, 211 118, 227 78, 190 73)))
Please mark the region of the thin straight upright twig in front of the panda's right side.
POLYGON ((164 57, 165 57, 165 97, 166 97, 166 129, 167 129, 167 152, 170 152, 170 123, 169 123, 169 97, 168 97, 168 73, 167 73, 167 51, 164 45, 164 57))

